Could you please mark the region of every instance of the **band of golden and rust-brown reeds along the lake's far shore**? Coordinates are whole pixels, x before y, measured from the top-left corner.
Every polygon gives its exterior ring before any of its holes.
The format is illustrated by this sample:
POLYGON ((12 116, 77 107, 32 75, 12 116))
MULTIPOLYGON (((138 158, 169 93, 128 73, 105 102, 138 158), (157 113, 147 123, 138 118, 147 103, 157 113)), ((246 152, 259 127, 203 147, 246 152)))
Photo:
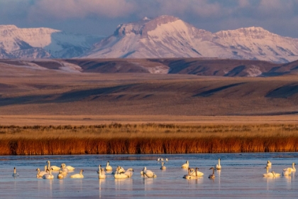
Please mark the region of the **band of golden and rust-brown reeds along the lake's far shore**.
POLYGON ((298 124, 0 126, 0 155, 298 151, 298 124))

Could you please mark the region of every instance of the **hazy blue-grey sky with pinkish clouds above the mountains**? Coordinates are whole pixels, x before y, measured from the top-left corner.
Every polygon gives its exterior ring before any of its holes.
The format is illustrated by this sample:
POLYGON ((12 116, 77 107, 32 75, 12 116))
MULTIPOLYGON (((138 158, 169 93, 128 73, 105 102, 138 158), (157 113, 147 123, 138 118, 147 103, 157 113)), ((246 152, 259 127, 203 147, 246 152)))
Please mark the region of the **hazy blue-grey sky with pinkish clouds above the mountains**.
POLYGON ((109 36, 120 23, 172 15, 216 32, 261 26, 298 38, 298 0, 0 0, 0 24, 109 36))

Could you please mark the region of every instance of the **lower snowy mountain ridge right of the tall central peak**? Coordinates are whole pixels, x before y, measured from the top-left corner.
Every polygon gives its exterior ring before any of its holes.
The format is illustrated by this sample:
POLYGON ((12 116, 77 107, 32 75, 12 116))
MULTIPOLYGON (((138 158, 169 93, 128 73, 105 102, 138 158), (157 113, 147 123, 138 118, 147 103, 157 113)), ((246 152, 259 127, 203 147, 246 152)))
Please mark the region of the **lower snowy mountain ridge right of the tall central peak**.
POLYGON ((260 27, 219 31, 214 42, 236 57, 244 59, 291 62, 298 59, 298 39, 278 36, 260 27))

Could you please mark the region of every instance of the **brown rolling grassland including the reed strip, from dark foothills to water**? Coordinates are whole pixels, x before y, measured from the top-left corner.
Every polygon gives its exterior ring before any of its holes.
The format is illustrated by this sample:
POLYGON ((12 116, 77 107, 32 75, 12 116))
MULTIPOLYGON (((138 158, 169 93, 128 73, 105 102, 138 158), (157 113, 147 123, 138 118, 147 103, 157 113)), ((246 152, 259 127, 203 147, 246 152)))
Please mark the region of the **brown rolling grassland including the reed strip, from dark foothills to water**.
POLYGON ((3 155, 297 151, 296 75, 0 70, 3 155))

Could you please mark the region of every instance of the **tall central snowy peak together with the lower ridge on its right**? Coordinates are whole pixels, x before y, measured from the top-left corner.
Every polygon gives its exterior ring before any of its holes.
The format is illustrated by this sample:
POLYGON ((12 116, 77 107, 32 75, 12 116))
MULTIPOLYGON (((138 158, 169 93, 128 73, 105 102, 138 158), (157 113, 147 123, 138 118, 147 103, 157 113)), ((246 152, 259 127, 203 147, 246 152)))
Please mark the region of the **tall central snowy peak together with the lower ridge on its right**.
POLYGON ((298 39, 263 28, 211 33, 174 16, 121 24, 84 58, 231 58, 286 63, 298 60, 298 39))

